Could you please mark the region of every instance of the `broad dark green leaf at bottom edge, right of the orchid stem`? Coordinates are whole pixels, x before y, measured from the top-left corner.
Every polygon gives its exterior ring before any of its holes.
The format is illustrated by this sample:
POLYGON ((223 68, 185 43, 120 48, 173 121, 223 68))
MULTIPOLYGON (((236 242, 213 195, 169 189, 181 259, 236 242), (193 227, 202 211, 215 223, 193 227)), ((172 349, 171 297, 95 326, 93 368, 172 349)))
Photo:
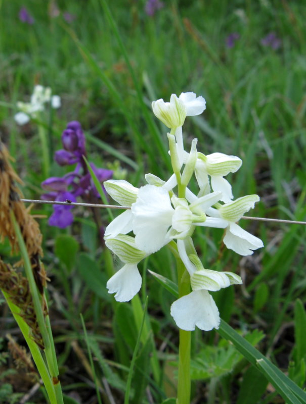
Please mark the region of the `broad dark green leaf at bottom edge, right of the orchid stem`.
MULTIPOLYGON (((244 373, 237 404, 256 404, 265 393, 268 380, 254 366, 244 373)), ((260 402, 260 401, 259 401, 260 402)))

